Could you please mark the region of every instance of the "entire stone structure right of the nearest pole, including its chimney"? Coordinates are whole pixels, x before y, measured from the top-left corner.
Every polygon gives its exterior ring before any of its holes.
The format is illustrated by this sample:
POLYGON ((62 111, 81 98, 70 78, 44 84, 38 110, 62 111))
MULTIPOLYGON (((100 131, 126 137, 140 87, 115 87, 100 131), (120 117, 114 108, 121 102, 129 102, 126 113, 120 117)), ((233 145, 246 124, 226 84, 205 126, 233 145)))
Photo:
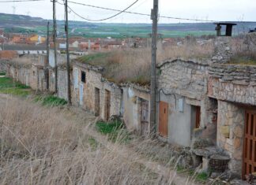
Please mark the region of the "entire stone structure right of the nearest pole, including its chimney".
POLYGON ((229 37, 216 38, 215 47, 211 59, 158 65, 156 132, 164 141, 189 146, 206 161, 203 168, 227 161, 223 172, 244 179, 256 172, 256 67, 230 62, 229 37), (198 149, 198 143, 206 144, 198 149))

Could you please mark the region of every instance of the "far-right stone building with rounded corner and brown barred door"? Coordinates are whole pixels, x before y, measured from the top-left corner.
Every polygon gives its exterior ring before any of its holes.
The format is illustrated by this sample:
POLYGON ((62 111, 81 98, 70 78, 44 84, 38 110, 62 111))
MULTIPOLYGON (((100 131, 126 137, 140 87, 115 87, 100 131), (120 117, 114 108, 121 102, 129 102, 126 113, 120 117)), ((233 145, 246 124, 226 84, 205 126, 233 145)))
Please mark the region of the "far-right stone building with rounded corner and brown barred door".
POLYGON ((208 95, 218 100, 217 146, 231 157, 229 168, 243 177, 256 170, 255 72, 254 65, 209 68, 208 95))

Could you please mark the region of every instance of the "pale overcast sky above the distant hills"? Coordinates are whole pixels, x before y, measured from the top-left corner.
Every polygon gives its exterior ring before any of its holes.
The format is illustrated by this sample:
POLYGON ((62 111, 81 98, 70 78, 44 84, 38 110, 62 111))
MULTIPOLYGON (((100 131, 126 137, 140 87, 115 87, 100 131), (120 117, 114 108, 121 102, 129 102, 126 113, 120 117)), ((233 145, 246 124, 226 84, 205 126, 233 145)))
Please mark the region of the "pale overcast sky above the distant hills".
MULTIPOLYGON (((1 2, 2 0, 0 0, 1 2)), ((11 0, 9 0, 11 1, 11 0)), ((71 1, 71 0, 70 0, 71 1)), ((73 0, 93 6, 104 6, 113 9, 125 9, 135 0, 73 0)), ((58 0, 62 2, 62 0, 58 0)), ((139 0, 129 10, 137 13, 150 13, 152 0, 139 0)), ((13 13, 13 6, 16 7, 16 14, 30 15, 32 17, 43 17, 52 19, 52 3, 50 0, 42 2, 6 2, 0 3, 1 13, 13 13)), ((102 19, 110 17, 115 12, 94 9, 86 6, 69 4, 70 8, 88 19, 102 19)), ((57 6, 57 19, 63 20, 64 7, 57 6)), ((244 20, 256 21, 255 0, 160 0, 160 15, 168 17, 184 17, 202 20, 244 20)), ((81 20, 73 13, 69 14, 70 20, 81 20)), ((122 13, 118 17, 104 22, 111 23, 150 23, 150 17, 122 13)), ((187 20, 171 20, 160 18, 160 23, 179 23, 187 20)), ((191 22, 191 21, 190 21, 191 22)), ((195 22, 195 21, 192 21, 195 22)))

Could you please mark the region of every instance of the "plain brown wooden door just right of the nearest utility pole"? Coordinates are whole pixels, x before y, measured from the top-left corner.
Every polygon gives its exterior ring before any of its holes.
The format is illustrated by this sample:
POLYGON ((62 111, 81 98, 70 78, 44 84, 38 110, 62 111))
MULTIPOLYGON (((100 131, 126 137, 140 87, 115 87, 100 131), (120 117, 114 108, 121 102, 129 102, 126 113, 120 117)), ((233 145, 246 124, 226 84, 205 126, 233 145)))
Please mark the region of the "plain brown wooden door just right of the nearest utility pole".
POLYGON ((159 134, 163 137, 168 136, 168 103, 159 103, 159 134))

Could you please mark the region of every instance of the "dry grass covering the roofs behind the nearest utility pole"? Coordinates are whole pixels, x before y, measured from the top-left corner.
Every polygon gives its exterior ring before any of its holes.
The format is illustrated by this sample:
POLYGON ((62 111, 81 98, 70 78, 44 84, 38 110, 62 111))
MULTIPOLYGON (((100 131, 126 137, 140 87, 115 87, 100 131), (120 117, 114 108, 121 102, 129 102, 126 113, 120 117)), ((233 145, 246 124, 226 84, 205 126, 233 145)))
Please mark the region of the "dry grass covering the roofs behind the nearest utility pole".
MULTIPOLYGON (((194 58, 210 57, 213 54, 213 43, 203 46, 183 45, 166 47, 158 50, 157 62, 177 57, 194 58)), ((142 86, 150 84, 151 49, 117 50, 111 54, 92 54, 81 57, 78 61, 105 68, 104 77, 115 83, 137 83, 142 86)))

